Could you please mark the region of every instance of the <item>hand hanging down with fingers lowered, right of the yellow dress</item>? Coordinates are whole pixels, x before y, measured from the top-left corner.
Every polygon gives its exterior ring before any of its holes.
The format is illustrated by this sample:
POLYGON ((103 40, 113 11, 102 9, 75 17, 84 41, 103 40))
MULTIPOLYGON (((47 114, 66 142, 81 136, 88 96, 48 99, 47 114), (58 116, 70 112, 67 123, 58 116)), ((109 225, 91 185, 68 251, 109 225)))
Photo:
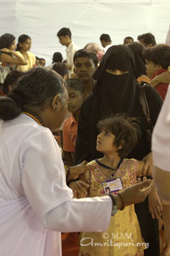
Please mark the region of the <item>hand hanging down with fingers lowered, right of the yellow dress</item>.
POLYGON ((155 188, 148 195, 148 204, 152 219, 155 219, 155 217, 156 219, 159 219, 159 217, 161 216, 162 204, 155 188))

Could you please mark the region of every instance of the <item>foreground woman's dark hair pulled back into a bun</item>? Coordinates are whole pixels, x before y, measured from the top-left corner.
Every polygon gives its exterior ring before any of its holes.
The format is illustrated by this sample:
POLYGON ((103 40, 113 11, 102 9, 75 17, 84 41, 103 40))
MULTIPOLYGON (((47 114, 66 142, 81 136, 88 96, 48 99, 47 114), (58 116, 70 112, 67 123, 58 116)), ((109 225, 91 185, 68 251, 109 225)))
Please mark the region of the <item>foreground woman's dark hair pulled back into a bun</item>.
POLYGON ((14 119, 29 107, 43 109, 56 94, 60 94, 61 100, 66 95, 61 76, 42 67, 31 69, 19 79, 10 94, 0 98, 0 119, 14 119))

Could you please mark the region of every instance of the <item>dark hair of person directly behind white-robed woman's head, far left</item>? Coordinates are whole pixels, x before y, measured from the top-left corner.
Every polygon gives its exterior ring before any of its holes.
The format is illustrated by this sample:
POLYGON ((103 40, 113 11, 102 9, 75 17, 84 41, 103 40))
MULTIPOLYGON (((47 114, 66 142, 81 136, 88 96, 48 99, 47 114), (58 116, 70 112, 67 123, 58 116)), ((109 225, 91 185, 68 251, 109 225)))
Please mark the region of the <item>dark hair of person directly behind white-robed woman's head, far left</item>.
POLYGON ((9 93, 9 86, 12 88, 15 86, 18 79, 23 76, 24 73, 17 70, 12 70, 5 78, 4 84, 3 84, 3 93, 8 94, 9 93))

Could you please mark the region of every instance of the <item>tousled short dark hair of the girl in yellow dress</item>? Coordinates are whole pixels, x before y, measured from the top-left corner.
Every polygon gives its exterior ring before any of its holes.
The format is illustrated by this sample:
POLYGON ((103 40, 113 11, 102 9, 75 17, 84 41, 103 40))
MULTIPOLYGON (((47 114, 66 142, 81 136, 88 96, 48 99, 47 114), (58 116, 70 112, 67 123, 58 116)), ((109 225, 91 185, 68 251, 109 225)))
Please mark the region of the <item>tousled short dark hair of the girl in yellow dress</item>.
POLYGON ((115 136, 114 146, 118 147, 123 143, 123 147, 117 150, 121 158, 129 155, 140 137, 138 120, 124 113, 99 121, 98 129, 99 131, 108 130, 115 136))

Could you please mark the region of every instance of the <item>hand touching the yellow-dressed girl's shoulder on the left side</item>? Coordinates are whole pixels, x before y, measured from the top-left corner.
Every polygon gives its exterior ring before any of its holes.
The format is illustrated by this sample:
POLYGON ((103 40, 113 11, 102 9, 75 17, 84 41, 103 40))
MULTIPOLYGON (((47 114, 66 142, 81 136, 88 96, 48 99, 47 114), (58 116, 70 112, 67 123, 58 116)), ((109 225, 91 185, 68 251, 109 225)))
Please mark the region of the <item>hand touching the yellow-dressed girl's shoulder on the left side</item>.
POLYGON ((95 169, 95 166, 86 165, 87 163, 88 163, 87 161, 83 161, 82 163, 80 163, 78 165, 70 166, 69 167, 69 171, 70 171, 69 180, 76 180, 86 170, 95 169))

